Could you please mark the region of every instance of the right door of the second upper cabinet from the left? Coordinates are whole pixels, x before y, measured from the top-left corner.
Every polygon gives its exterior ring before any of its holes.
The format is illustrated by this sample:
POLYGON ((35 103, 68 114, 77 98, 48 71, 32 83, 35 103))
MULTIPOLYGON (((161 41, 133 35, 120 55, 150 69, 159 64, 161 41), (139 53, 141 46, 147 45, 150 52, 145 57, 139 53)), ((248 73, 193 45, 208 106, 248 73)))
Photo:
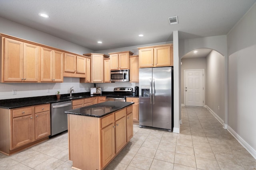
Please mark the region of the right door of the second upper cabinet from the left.
POLYGON ((63 82, 63 53, 61 51, 53 51, 53 81, 63 82))

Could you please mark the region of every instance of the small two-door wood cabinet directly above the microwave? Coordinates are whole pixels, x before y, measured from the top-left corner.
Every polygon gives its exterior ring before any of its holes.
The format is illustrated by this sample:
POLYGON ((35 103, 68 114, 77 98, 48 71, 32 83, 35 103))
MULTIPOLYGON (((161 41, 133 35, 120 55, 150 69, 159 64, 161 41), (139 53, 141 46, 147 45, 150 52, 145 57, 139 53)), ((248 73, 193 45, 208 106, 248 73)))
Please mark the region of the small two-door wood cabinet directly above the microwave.
POLYGON ((108 53, 110 55, 111 70, 128 70, 129 56, 133 55, 131 51, 108 53))

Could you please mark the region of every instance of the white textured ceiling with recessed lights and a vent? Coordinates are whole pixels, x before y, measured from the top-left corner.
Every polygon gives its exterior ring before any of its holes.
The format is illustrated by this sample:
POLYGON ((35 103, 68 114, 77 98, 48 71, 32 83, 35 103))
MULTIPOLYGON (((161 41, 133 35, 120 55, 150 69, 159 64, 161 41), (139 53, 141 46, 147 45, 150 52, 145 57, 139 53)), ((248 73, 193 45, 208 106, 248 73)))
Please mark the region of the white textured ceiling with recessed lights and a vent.
POLYGON ((181 39, 226 35, 255 2, 0 0, 0 17, 98 51, 172 41, 176 30, 181 39), (40 12, 50 18, 41 18, 40 12), (178 16, 178 25, 169 24, 172 16, 178 16))

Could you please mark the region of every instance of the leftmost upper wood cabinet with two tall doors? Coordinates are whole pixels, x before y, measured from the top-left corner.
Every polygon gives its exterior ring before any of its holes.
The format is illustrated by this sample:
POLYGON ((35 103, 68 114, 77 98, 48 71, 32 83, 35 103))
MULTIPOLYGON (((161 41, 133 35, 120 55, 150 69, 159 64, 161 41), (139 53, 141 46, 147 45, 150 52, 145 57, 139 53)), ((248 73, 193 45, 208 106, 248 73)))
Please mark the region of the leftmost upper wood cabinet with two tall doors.
POLYGON ((38 82, 40 47, 2 37, 1 82, 38 82))

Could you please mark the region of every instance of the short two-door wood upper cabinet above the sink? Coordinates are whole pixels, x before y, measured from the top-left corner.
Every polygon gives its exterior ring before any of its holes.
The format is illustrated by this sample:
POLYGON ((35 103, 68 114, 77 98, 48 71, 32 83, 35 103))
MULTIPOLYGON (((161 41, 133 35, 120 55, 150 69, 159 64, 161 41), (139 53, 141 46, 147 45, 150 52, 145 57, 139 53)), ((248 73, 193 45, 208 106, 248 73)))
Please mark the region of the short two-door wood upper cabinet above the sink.
POLYGON ((70 53, 64 54, 64 73, 65 77, 86 77, 86 58, 70 53))

